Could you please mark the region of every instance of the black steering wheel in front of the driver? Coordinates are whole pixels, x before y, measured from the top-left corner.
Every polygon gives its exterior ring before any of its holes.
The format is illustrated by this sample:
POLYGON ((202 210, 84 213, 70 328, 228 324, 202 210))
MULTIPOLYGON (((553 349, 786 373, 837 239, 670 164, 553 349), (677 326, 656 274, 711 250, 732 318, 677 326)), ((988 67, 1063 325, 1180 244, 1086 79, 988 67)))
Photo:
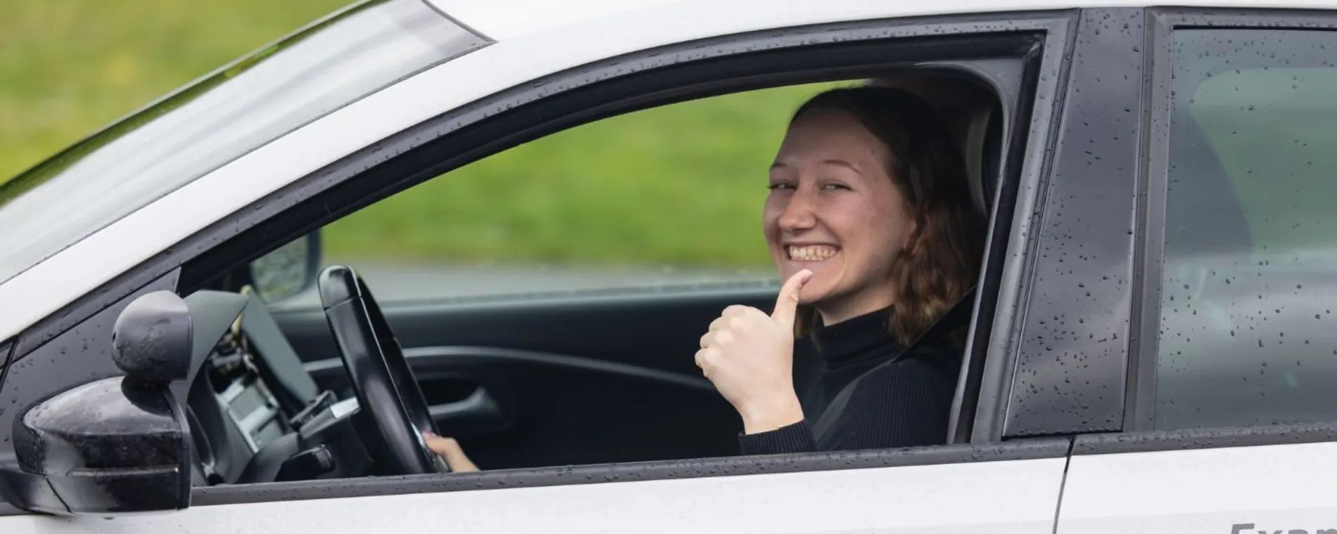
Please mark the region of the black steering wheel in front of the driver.
POLYGON ((365 431, 360 434, 370 434, 362 439, 372 458, 392 475, 451 473, 445 459, 422 441, 424 431, 436 433, 436 423, 366 284, 353 268, 330 266, 321 271, 316 287, 362 411, 358 417, 365 431))

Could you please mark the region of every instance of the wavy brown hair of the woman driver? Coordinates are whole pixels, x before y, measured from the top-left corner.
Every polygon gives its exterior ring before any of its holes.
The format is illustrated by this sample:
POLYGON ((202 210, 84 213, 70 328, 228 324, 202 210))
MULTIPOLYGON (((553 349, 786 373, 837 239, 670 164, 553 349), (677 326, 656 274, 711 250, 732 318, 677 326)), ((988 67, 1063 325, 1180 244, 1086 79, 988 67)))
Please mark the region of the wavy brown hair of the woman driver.
MULTIPOLYGON (((888 327, 910 343, 975 284, 984 248, 984 215, 971 202, 965 162, 928 103, 890 87, 848 87, 809 99, 790 125, 813 109, 838 109, 890 148, 888 174, 916 222, 909 244, 892 260, 894 300, 888 327)), ((820 323, 800 306, 796 335, 820 323)))

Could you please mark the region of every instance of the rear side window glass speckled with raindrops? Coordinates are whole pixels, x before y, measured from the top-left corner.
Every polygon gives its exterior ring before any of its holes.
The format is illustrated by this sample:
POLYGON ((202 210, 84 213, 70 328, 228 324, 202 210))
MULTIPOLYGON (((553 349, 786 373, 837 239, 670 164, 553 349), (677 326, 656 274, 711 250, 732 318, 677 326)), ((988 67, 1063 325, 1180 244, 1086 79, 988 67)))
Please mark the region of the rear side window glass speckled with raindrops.
POLYGON ((1173 60, 1155 426, 1337 421, 1337 33, 1173 60))

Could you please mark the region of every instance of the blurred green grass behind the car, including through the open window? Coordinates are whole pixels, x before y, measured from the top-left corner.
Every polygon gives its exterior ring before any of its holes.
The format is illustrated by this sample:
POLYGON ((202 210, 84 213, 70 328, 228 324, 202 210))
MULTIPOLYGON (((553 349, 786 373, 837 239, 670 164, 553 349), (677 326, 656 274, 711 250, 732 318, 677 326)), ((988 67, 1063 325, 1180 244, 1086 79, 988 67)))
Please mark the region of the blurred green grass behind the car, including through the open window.
MULTIPOLYGON (((345 0, 0 7, 0 182, 345 0)), ((817 87, 647 109, 528 143, 336 222, 350 260, 762 267, 766 167, 817 87)))

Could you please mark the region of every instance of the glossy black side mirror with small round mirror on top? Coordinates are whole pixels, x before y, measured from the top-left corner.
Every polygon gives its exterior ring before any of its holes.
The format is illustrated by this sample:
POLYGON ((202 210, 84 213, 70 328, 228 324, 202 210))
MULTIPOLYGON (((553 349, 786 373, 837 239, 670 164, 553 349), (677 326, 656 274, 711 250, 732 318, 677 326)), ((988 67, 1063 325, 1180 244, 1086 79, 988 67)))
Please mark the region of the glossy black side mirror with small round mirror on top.
POLYGON ((19 466, 0 467, 5 501, 57 515, 190 506, 190 426, 168 387, 190 372, 186 302, 171 291, 135 299, 112 344, 124 376, 66 390, 15 418, 19 466))

